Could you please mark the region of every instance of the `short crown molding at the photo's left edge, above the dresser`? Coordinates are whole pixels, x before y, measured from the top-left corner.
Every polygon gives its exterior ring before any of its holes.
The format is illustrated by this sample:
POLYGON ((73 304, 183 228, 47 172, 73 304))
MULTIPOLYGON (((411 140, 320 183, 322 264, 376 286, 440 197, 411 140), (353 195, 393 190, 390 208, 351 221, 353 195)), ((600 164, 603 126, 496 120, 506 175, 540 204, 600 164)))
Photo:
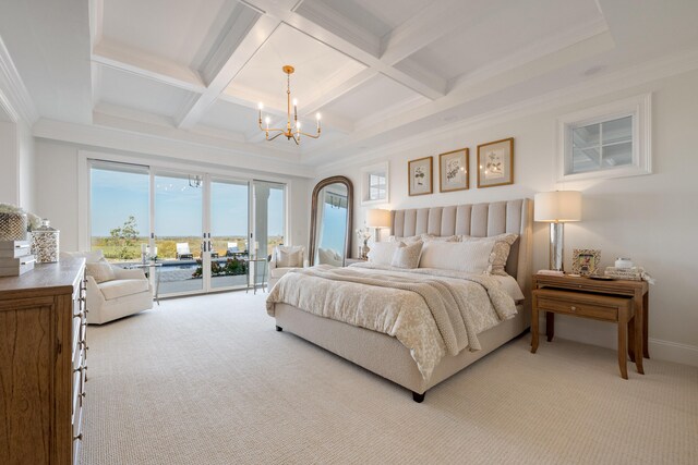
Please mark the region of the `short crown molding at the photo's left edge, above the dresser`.
POLYGON ((22 119, 31 126, 39 119, 32 96, 14 66, 2 37, 0 37, 0 105, 15 122, 22 119))

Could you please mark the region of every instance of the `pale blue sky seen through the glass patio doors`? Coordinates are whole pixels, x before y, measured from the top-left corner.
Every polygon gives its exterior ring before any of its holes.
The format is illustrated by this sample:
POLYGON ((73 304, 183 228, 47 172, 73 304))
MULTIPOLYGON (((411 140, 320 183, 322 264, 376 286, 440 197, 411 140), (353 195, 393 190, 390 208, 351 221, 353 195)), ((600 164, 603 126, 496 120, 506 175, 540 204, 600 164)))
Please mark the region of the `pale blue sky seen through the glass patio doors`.
MULTIPOLYGON (((130 216, 141 236, 149 232, 147 172, 91 170, 92 235, 108 236, 130 216)), ((200 236, 203 189, 189 179, 155 176, 155 233, 158 236, 200 236)), ((268 199, 268 233, 284 235, 284 189, 273 188, 268 199)), ((248 235, 248 184, 215 182, 212 185, 213 236, 248 235)))

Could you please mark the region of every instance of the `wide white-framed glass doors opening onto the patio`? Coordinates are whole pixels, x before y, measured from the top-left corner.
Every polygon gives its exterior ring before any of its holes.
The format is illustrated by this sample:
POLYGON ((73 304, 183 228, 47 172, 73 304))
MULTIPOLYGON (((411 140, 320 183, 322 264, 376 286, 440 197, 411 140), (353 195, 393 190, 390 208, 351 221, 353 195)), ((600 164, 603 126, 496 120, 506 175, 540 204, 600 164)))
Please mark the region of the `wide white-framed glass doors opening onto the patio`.
POLYGON ((124 266, 160 264, 152 277, 159 296, 266 281, 266 267, 249 259, 286 243, 282 183, 92 160, 91 189, 92 248, 124 266), (139 227, 125 238, 130 223, 113 228, 122 217, 139 227))

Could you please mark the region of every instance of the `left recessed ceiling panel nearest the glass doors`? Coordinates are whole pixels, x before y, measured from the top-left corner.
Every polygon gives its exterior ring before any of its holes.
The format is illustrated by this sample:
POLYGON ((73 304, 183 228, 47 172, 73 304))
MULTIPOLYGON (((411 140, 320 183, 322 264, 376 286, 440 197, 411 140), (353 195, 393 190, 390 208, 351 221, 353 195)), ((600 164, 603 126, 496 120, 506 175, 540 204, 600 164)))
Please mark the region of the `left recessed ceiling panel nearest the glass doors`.
POLYGON ((100 66, 97 88, 95 103, 112 103, 170 118, 193 96, 188 90, 108 66, 100 66))

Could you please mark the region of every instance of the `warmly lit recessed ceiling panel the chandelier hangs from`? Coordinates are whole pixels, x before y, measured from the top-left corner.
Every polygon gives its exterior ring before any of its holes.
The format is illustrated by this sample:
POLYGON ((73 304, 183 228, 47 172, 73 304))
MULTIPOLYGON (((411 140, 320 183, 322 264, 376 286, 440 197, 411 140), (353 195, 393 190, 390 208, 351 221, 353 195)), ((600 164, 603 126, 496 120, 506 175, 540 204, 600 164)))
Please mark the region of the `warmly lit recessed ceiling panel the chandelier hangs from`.
POLYGON ((299 111, 303 103, 314 101, 365 69, 334 48, 281 24, 228 85, 226 94, 286 111, 287 75, 281 71, 286 64, 296 69, 291 97, 299 100, 299 111))

